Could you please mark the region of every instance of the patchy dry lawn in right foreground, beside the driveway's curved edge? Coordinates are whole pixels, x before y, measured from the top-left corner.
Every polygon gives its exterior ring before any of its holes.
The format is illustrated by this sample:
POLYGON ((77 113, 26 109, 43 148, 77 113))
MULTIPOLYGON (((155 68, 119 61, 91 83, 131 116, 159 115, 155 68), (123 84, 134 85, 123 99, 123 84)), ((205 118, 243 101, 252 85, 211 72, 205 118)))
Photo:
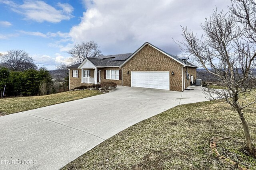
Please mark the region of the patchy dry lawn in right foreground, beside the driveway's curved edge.
MULTIPOLYGON (((244 109, 256 147, 256 105, 244 109)), ((230 170, 214 158, 209 139, 221 155, 256 170, 256 156, 242 148, 244 132, 238 114, 217 101, 174 107, 141 121, 67 164, 63 170, 230 170)))

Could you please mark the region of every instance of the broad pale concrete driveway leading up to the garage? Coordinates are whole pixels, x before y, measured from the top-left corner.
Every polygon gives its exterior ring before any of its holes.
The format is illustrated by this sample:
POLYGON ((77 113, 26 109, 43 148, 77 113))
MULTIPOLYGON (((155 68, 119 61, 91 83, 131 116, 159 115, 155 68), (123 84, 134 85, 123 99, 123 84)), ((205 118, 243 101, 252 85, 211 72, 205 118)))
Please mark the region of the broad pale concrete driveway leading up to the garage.
POLYGON ((108 94, 2 116, 0 169, 60 169, 135 123, 179 104, 206 101, 200 87, 190 88, 118 86, 108 94))

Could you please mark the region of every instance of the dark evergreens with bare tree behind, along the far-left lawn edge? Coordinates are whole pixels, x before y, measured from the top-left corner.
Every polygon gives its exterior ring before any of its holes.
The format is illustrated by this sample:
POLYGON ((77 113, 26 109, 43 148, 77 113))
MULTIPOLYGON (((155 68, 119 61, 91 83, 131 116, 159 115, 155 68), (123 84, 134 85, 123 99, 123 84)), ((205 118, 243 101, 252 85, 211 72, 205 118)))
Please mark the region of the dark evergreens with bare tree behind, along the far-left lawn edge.
POLYGON ((10 50, 0 57, 1 98, 3 95, 37 96, 68 90, 68 78, 62 82, 53 81, 48 70, 38 68, 23 50, 10 50))

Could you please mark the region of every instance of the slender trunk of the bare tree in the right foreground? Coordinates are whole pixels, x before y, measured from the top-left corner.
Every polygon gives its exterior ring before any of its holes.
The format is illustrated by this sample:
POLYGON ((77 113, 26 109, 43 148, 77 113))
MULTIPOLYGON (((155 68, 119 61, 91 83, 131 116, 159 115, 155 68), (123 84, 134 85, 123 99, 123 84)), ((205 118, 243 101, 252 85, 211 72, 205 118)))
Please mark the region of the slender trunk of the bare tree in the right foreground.
POLYGON ((241 108, 239 106, 236 106, 236 110, 237 110, 237 112, 239 114, 239 117, 242 121, 243 129, 244 129, 244 135, 245 135, 246 143, 247 143, 247 146, 248 146, 248 149, 249 149, 249 153, 252 154, 253 153, 252 139, 251 139, 251 136, 250 136, 250 132, 249 132, 247 122, 244 119, 244 114, 242 113, 241 108))

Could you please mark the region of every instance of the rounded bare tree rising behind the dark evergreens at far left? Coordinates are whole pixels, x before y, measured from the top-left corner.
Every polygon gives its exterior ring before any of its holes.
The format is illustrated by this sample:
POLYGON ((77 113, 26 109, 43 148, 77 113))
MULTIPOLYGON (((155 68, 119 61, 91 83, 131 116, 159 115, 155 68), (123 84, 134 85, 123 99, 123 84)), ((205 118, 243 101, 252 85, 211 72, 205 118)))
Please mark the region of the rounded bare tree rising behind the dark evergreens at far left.
POLYGON ((10 50, 6 54, 0 56, 4 66, 13 71, 23 71, 28 69, 37 69, 32 57, 23 50, 10 50))

